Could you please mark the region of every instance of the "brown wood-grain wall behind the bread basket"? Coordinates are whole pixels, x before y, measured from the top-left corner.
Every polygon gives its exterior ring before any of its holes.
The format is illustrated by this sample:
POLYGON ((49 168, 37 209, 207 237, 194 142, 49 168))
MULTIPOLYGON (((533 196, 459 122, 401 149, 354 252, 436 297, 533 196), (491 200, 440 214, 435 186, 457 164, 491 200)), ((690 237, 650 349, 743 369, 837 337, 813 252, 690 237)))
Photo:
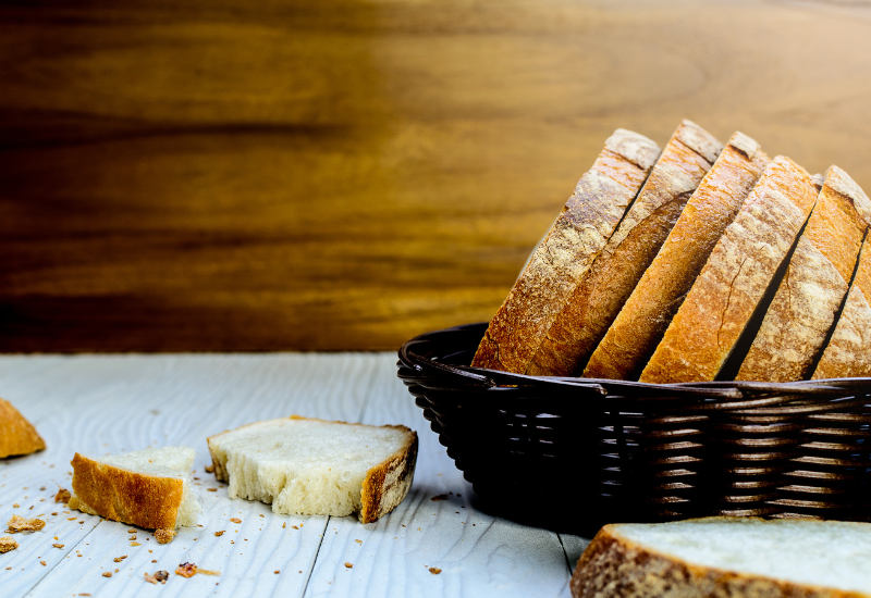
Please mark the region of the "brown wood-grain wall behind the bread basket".
POLYGON ((0 350, 395 349, 615 127, 871 188, 869 100, 861 1, 2 1, 0 350))

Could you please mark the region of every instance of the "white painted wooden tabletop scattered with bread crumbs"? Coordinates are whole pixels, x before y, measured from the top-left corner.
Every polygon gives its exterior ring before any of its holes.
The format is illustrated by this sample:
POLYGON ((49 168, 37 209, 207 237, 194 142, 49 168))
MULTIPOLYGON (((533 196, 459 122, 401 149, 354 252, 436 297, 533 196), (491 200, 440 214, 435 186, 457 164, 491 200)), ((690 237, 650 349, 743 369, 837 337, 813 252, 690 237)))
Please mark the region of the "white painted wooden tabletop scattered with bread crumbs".
POLYGON ((0 555, 0 597, 568 596, 587 540, 476 511, 470 485, 396 378, 395 362, 393 353, 0 358, 0 396, 48 444, 44 452, 0 460, 0 524, 13 513, 47 521, 40 532, 16 534, 20 548, 0 555), (230 500, 204 472, 206 436, 294 413, 416 429, 420 451, 405 501, 363 525, 273 515, 266 504, 230 500), (171 544, 139 531, 140 546, 131 546, 131 526, 53 502, 58 486, 71 486, 76 450, 168 445, 196 447, 204 501, 201 527, 183 528, 171 544), (432 501, 438 495, 449 499, 432 501), (172 574, 165 585, 143 578, 186 561, 221 575, 172 574))

